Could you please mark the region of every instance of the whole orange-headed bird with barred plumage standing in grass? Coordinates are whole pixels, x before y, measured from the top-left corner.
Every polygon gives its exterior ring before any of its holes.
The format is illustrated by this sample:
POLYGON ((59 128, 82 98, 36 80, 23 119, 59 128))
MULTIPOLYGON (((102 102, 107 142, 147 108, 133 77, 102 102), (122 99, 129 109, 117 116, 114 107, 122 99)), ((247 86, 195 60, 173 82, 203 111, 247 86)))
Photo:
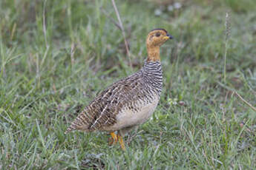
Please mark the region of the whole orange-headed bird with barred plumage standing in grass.
POLYGON ((99 92, 65 134, 73 130, 109 132, 113 143, 118 141, 125 150, 124 135, 151 118, 160 101, 163 89, 160 46, 172 38, 163 28, 151 30, 146 38, 148 57, 143 67, 99 92))

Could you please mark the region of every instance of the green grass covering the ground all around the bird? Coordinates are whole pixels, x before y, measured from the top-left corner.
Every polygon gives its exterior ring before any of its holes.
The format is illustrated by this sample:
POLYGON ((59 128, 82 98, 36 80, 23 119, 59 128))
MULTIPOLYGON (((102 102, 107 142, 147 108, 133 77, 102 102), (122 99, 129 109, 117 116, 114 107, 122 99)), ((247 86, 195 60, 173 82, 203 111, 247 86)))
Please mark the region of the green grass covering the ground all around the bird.
POLYGON ((116 1, 130 67, 111 1, 0 1, 0 169, 255 169, 256 113, 234 93, 256 105, 255 1, 163 3, 116 1), (64 135, 99 91, 142 67, 156 27, 174 35, 161 49, 163 94, 127 151, 103 132, 64 135))

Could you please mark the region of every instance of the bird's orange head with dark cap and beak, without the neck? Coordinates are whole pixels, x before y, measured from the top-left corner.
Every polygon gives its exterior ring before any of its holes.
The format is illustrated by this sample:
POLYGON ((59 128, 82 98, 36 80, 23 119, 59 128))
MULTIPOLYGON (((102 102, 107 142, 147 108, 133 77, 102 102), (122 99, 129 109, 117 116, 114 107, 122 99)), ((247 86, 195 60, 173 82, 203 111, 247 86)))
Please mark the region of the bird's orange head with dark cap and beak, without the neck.
POLYGON ((147 47, 148 48, 160 47, 168 39, 172 39, 172 36, 168 34, 165 29, 157 28, 157 29, 151 30, 151 32, 148 33, 148 37, 147 37, 147 47))

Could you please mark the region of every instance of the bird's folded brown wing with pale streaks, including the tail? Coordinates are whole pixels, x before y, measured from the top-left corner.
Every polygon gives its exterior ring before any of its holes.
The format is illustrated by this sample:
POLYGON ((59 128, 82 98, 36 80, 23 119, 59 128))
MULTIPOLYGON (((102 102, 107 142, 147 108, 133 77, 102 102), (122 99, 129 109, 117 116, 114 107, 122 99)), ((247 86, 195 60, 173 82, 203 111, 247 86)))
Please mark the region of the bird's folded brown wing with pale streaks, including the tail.
POLYGON ((116 115, 123 106, 144 97, 142 96, 142 84, 142 76, 134 73, 108 86, 85 107, 65 133, 75 129, 91 132, 102 126, 114 125, 116 115))

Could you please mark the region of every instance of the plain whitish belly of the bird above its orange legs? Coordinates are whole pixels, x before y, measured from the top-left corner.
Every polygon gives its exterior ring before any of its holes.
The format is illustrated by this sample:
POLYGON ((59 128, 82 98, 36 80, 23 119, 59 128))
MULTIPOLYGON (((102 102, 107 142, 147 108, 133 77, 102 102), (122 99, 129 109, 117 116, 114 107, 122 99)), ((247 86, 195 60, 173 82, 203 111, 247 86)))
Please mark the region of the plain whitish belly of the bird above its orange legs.
POLYGON ((119 130, 128 126, 136 126, 145 123, 145 121, 153 114, 154 109, 156 109, 158 101, 159 97, 156 96, 151 103, 140 106, 140 109, 138 109, 137 112, 125 107, 118 115, 116 115, 116 123, 114 126, 111 126, 110 129, 119 130))

